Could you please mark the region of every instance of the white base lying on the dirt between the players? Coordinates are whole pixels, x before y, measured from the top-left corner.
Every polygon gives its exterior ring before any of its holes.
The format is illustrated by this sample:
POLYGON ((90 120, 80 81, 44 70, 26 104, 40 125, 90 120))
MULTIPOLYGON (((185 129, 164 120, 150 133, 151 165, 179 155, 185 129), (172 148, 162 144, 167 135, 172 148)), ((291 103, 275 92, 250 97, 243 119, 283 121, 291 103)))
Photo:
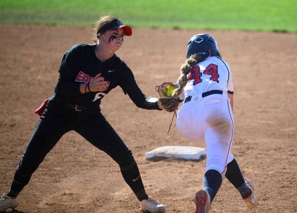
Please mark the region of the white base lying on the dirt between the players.
POLYGON ((199 160, 206 155, 206 149, 194 146, 161 146, 145 153, 145 158, 154 157, 184 158, 186 160, 199 160))

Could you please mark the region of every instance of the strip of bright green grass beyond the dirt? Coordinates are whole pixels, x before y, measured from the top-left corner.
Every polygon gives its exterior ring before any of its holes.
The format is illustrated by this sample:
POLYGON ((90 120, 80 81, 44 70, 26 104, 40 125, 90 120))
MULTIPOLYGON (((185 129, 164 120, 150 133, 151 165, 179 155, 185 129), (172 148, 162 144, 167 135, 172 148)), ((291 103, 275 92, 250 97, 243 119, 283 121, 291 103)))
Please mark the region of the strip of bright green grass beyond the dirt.
POLYGON ((93 25, 113 14, 134 27, 297 32, 296 0, 0 0, 0 23, 93 25))

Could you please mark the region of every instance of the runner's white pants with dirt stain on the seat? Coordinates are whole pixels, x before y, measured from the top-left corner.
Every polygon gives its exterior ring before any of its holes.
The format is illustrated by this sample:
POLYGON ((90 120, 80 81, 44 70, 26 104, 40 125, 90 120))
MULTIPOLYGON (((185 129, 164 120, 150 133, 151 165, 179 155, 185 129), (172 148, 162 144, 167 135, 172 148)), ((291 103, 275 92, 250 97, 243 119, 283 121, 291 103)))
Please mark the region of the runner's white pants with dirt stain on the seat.
POLYGON ((206 148, 206 171, 215 169, 224 177, 227 164, 234 158, 234 122, 227 93, 192 96, 177 111, 176 126, 186 139, 206 148))

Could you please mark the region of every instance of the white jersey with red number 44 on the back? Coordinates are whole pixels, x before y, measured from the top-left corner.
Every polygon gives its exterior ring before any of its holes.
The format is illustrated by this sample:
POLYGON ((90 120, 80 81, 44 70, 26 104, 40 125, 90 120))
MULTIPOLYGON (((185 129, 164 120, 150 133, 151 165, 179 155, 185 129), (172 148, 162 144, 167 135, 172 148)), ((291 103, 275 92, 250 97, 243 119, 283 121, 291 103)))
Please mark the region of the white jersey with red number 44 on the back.
MULTIPOLYGON (((208 57, 206 60, 192 66, 187 78, 188 83, 183 88, 181 100, 190 95, 198 95, 214 89, 233 94, 230 67, 220 57, 208 57)), ((177 86, 180 87, 178 82, 177 86)))

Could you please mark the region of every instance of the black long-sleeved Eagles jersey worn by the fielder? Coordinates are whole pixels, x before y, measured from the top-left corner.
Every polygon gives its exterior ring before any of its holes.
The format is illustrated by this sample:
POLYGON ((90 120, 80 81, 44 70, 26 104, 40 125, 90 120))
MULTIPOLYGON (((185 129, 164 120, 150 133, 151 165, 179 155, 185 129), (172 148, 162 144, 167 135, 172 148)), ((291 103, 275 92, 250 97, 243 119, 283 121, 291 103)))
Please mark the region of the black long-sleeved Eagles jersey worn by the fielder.
POLYGON ((59 79, 55 87, 55 94, 49 100, 47 108, 59 114, 75 111, 68 105, 80 105, 89 110, 80 114, 92 114, 100 111, 101 99, 111 89, 118 85, 128 94, 132 101, 140 108, 158 109, 157 102, 148 102, 145 95, 136 84, 130 68, 115 54, 101 62, 95 55, 96 45, 78 44, 64 54, 60 68, 59 79), (100 77, 108 82, 103 92, 80 92, 80 84, 91 82, 101 73, 100 77))

